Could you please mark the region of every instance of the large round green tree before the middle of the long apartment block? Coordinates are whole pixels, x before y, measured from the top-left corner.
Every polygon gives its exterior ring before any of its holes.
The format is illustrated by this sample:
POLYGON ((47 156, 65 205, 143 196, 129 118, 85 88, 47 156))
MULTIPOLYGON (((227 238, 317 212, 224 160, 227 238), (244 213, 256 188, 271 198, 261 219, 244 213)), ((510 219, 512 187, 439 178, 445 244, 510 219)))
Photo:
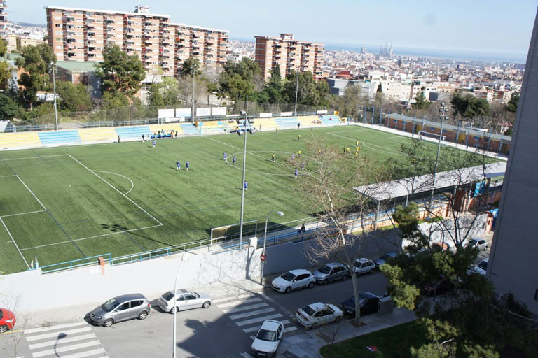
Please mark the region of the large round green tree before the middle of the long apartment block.
POLYGON ((104 92, 124 94, 131 99, 142 87, 142 80, 146 76, 139 57, 127 55, 118 45, 106 45, 103 62, 96 64, 95 69, 102 80, 104 92))

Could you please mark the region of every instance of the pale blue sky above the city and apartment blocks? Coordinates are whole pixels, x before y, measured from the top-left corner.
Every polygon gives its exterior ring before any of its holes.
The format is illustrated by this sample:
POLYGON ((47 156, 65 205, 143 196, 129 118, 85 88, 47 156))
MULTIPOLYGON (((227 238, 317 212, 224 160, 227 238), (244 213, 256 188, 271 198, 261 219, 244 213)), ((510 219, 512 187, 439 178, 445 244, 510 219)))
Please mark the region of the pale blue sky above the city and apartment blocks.
MULTIPOLYGON (((132 11, 138 0, 8 0, 9 20, 46 24, 43 6, 132 11)), ((230 38, 295 34, 330 48, 513 55, 526 59, 538 0, 142 0, 172 22, 230 31, 230 38)))

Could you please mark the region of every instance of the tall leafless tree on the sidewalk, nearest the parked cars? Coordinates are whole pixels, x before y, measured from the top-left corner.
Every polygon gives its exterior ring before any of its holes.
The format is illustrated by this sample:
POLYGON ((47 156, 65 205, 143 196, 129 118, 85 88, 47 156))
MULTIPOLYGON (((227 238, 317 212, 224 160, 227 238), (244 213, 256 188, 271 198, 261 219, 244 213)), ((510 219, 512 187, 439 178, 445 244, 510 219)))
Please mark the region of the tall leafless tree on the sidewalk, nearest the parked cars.
MULTIPOLYGON (((324 138, 312 136, 305 141, 308 165, 298 179, 298 189, 320 220, 326 223, 319 237, 310 241, 306 255, 310 262, 337 260, 352 278, 355 296, 355 323, 360 323, 359 281, 354 265, 361 257, 362 245, 375 236, 375 223, 366 219, 372 205, 368 195, 353 189, 368 182, 379 182, 381 173, 365 157, 344 154, 324 138)), ((375 186, 371 188, 375 192, 375 186)))

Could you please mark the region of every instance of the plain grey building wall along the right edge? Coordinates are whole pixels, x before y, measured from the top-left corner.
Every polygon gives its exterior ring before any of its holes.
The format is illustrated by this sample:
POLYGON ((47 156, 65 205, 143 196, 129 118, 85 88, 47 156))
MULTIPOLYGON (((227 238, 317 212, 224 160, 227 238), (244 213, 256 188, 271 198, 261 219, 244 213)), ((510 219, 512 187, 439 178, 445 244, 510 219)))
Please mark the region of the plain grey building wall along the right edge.
POLYGON ((538 315, 538 16, 530 40, 518 113, 504 176, 488 278, 538 315))

